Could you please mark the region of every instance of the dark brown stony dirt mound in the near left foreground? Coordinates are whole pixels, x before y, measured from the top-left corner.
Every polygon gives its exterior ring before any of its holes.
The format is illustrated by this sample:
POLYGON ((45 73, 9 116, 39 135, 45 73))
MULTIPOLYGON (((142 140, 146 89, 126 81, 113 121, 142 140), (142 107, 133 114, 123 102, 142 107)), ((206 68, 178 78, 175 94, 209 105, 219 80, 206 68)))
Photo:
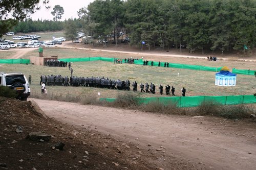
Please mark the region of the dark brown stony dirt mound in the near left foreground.
POLYGON ((159 169, 146 163, 146 157, 151 156, 143 155, 135 144, 123 143, 86 127, 75 129, 57 122, 33 101, 0 98, 0 104, 0 168, 159 169), (51 139, 26 139, 31 132, 51 135, 51 139), (60 142, 65 144, 63 150, 56 149, 60 142))

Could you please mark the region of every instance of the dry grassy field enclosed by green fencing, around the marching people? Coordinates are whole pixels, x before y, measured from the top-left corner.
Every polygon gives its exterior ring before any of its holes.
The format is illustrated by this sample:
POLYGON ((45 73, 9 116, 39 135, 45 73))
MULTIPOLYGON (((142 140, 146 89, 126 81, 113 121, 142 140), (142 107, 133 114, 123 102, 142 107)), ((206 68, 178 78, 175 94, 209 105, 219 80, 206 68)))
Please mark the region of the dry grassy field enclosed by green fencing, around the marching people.
MULTIPOLYGON (((238 75, 237 86, 235 87, 219 87, 215 86, 215 72, 198 71, 188 69, 174 69, 164 67, 151 67, 135 64, 114 64, 111 62, 94 61, 94 62, 76 62, 73 63, 73 75, 78 77, 108 77, 112 80, 126 80, 131 82, 137 81, 144 84, 154 83, 156 85, 156 94, 142 93, 143 97, 160 96, 158 87, 169 84, 176 88, 176 94, 181 95, 180 89, 185 87, 187 95, 238 95, 252 94, 255 91, 253 87, 256 79, 253 76, 238 75)), ((68 67, 47 67, 37 65, 3 65, 1 71, 4 72, 23 72, 27 77, 32 76, 31 89, 32 93, 40 93, 40 75, 62 75, 70 76, 68 67), (11 67, 10 67, 11 66, 11 67)), ((90 87, 61 87, 50 86, 48 94, 71 94, 71 95, 95 95, 101 92, 102 98, 115 98, 117 94, 122 94, 125 91, 90 88, 90 87)), ((132 87, 131 87, 132 88, 132 87)), ((138 89, 140 89, 138 87, 138 89)), ((133 92, 131 93, 139 93, 133 92)))

